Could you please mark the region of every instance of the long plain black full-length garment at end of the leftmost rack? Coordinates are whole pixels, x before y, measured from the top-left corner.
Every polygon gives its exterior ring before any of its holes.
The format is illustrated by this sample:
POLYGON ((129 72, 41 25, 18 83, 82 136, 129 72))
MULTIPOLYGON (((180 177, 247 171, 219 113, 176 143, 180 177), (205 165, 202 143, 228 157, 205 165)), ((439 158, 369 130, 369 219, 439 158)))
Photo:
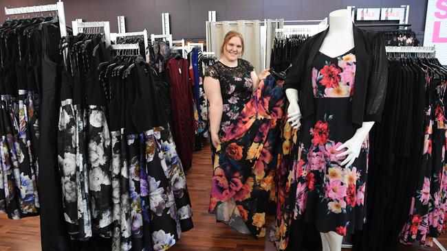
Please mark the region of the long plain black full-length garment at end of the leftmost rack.
POLYGON ((62 210, 61 176, 58 173, 57 128, 61 83, 60 30, 42 25, 41 123, 39 145, 39 197, 41 198, 42 250, 69 250, 62 210))

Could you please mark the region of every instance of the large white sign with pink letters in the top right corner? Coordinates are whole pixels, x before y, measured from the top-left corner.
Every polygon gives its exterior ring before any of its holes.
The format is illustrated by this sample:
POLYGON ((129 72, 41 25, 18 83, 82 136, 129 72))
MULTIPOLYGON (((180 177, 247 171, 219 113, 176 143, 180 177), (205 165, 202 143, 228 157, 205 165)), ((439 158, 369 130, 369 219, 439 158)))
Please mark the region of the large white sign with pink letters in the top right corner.
POLYGON ((428 0, 424 46, 435 46, 436 57, 447 64, 447 0, 428 0))

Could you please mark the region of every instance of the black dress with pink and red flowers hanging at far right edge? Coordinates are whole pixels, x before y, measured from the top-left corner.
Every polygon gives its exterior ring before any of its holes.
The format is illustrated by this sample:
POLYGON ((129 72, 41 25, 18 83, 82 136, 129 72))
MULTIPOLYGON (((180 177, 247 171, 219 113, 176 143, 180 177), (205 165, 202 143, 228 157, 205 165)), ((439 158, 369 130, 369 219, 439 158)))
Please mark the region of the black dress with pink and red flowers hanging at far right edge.
POLYGON ((408 219, 400 242, 432 246, 430 237, 447 230, 447 80, 437 69, 425 69, 424 147, 408 219))

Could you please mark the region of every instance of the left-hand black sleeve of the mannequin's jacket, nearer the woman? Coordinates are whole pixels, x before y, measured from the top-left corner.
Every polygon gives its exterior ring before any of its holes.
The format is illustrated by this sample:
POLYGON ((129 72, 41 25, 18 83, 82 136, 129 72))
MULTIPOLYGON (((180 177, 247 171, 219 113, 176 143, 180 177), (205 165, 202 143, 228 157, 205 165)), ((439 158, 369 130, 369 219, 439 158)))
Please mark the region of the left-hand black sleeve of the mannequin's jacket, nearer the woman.
POLYGON ((301 45, 296 53, 296 58, 292 61, 292 66, 287 72, 285 77, 285 83, 283 85, 283 90, 288 88, 294 88, 298 91, 301 90, 301 80, 303 79, 303 74, 305 73, 305 62, 307 60, 307 51, 309 46, 309 40, 307 40, 303 45, 301 45))

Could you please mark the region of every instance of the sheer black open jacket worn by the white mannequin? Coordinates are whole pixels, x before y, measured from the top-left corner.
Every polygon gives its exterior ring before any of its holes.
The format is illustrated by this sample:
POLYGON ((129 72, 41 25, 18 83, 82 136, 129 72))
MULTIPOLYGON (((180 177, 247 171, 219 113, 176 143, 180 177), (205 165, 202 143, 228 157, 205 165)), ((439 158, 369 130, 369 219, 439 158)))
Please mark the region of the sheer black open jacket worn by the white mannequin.
MULTIPOLYGON (((328 30, 329 28, 306 40, 300 47, 285 80, 284 89, 298 90, 298 104, 303 119, 314 113, 311 64, 328 30)), ((353 36, 357 67, 356 91, 352 100, 352 122, 360 126, 363 121, 380 121, 386 95, 388 63, 380 34, 364 31, 353 25, 353 36)))

